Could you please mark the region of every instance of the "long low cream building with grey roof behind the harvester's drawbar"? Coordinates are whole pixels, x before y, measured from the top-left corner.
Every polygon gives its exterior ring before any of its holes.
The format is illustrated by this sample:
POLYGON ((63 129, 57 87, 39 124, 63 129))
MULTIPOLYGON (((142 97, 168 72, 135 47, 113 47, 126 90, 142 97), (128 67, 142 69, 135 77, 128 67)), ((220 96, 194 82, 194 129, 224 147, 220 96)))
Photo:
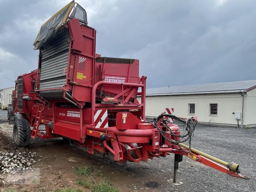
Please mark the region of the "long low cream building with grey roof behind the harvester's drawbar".
POLYGON ((173 108, 174 115, 201 123, 256 126, 255 88, 256 80, 147 89, 146 117, 173 108))

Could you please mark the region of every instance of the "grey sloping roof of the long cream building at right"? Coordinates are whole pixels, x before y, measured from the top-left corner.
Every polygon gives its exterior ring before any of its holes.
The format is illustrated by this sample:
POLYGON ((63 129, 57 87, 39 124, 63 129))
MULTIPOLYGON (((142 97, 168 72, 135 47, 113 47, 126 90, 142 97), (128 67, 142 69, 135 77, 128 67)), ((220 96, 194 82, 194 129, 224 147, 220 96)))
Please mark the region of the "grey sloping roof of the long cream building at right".
POLYGON ((197 84, 175 87, 150 88, 146 90, 146 95, 153 96, 248 92, 250 88, 254 86, 256 86, 256 80, 236 81, 227 83, 197 84))

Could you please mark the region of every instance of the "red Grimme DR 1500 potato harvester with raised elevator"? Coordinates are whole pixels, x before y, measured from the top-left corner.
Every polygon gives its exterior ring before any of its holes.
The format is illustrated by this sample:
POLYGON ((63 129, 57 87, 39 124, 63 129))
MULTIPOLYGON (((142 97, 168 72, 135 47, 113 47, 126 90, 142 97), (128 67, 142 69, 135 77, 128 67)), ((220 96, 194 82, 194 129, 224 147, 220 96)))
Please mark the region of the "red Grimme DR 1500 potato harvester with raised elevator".
POLYGON ((139 60, 101 57, 95 41, 96 30, 87 25, 86 11, 74 1, 42 25, 34 42, 38 68, 18 76, 8 113, 18 146, 27 146, 31 138, 62 137, 120 165, 174 153, 173 182, 182 156, 249 179, 239 174, 238 164, 190 147, 196 117, 162 113, 146 122, 147 77, 139 76, 139 60), (168 118, 183 123, 185 132, 168 118), (40 124, 45 129, 39 129, 40 124))

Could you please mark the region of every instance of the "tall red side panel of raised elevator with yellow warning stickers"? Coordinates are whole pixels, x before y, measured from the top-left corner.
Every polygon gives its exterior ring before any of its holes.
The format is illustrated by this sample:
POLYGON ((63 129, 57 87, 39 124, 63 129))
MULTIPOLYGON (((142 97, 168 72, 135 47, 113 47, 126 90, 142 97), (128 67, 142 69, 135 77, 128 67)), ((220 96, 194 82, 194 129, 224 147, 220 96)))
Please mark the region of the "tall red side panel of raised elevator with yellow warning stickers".
POLYGON ((78 20, 68 21, 68 30, 71 39, 74 39, 71 53, 70 66, 73 74, 70 74, 70 81, 73 81, 72 96, 78 101, 91 102, 92 85, 94 83, 94 53, 96 30, 94 28, 80 25, 78 20))

